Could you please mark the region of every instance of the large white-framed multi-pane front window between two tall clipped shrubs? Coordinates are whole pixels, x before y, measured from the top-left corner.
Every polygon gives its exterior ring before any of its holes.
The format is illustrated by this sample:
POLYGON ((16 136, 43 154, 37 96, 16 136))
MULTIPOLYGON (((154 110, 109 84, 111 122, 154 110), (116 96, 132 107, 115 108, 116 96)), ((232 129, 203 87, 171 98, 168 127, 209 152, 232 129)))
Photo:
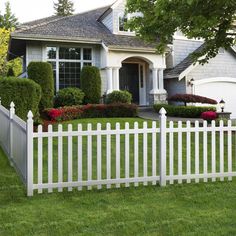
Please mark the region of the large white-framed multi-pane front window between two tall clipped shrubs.
POLYGON ((47 61, 51 63, 58 91, 66 87, 80 87, 83 66, 92 66, 92 49, 77 47, 47 47, 47 61))

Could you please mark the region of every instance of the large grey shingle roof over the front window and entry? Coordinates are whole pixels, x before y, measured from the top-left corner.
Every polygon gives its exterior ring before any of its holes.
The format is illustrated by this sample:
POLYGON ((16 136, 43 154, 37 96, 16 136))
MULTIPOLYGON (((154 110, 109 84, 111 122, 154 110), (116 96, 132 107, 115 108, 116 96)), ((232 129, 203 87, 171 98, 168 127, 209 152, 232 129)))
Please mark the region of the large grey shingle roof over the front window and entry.
POLYGON ((106 10, 107 7, 104 7, 69 17, 49 17, 26 23, 12 33, 12 38, 74 39, 103 42, 108 47, 155 48, 153 44, 145 43, 137 37, 112 34, 97 20, 106 10))

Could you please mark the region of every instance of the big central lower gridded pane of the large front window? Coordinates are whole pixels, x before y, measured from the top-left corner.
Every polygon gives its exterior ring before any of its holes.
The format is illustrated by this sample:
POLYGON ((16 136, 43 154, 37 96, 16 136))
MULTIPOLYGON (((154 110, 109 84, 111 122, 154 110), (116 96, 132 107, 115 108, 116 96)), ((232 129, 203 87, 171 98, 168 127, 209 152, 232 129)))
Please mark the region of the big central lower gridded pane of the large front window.
POLYGON ((59 63, 59 87, 80 87, 81 64, 78 62, 59 63))

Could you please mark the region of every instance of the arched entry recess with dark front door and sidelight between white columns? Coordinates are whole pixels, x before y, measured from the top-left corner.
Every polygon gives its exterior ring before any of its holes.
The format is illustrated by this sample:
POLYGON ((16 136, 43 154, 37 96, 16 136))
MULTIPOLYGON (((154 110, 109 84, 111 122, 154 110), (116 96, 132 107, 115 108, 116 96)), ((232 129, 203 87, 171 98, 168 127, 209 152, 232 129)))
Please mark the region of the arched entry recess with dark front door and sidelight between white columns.
POLYGON ((122 61, 119 71, 120 90, 132 94, 133 103, 147 105, 149 88, 149 63, 141 58, 128 58, 122 61))

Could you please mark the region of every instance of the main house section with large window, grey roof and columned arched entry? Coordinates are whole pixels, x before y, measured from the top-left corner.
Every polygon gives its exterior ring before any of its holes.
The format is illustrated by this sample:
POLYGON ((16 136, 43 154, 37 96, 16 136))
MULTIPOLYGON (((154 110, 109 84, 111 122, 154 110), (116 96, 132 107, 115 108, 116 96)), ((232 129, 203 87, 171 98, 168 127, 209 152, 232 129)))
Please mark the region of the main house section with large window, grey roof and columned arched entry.
POLYGON ((80 86, 85 65, 101 71, 102 94, 129 90, 139 105, 165 102, 165 55, 124 29, 126 1, 69 17, 53 16, 21 25, 11 35, 10 58, 52 64, 56 90, 80 86), (13 55, 13 56, 12 56, 13 55))

